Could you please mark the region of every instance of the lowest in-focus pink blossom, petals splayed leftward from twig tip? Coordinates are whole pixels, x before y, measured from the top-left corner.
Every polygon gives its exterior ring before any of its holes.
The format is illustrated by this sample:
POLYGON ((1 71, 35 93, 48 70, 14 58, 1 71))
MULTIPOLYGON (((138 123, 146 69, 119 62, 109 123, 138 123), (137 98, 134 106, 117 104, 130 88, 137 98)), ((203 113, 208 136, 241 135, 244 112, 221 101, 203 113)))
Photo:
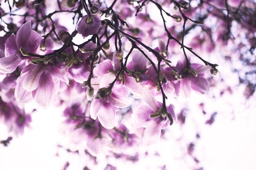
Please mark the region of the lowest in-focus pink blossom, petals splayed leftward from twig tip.
MULTIPOLYGON (((150 145, 155 143, 160 135, 161 129, 164 129, 170 124, 169 119, 165 116, 150 118, 153 113, 159 113, 162 108, 162 103, 157 102, 148 88, 144 88, 142 91, 142 98, 147 104, 139 104, 133 110, 132 124, 136 128, 146 128, 143 135, 143 144, 150 145)), ((170 104, 167 107, 167 112, 171 114, 174 121, 177 121, 177 117, 174 113, 174 106, 170 104)))

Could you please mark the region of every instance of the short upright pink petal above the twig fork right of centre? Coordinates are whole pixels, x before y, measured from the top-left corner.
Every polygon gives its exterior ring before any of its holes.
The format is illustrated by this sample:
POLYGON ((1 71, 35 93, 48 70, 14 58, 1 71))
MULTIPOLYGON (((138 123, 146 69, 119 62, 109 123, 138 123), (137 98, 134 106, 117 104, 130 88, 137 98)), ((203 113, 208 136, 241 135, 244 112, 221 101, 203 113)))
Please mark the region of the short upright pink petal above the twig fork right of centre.
POLYGON ((132 71, 136 68, 146 68, 147 58, 139 51, 136 50, 132 55, 132 71))

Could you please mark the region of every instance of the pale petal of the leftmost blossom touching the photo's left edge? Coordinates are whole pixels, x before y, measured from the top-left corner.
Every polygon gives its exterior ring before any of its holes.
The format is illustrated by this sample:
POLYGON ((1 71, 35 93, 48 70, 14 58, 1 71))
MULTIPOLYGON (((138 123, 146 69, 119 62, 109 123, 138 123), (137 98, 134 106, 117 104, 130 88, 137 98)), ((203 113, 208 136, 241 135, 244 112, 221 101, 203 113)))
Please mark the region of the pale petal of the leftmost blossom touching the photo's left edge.
POLYGON ((0 58, 0 73, 12 73, 20 64, 23 64, 25 60, 22 60, 18 55, 20 53, 0 58))

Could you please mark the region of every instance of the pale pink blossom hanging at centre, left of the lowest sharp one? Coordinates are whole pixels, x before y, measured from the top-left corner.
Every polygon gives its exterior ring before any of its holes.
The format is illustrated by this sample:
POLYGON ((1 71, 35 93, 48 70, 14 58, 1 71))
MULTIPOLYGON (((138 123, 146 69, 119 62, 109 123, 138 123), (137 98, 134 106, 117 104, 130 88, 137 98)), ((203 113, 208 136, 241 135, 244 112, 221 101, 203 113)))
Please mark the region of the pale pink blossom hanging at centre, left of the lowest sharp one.
POLYGON ((99 122, 104 128, 112 129, 115 126, 116 110, 118 108, 128 107, 126 102, 126 88, 122 86, 107 89, 110 83, 115 80, 115 75, 108 73, 101 77, 99 88, 106 90, 98 91, 90 106, 90 115, 92 119, 98 117, 99 122))

